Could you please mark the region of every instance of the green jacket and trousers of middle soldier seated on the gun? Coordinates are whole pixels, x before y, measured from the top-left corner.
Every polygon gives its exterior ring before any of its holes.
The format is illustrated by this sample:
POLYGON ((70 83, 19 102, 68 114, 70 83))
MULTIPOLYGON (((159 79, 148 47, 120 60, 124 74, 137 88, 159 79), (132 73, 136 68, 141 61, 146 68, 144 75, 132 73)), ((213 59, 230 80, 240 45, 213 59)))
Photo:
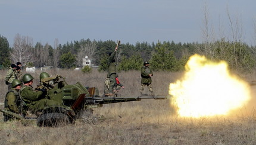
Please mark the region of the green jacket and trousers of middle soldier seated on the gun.
POLYGON ((34 114, 47 106, 60 105, 57 101, 43 98, 43 92, 33 91, 32 86, 22 86, 20 89, 20 97, 26 107, 34 114))

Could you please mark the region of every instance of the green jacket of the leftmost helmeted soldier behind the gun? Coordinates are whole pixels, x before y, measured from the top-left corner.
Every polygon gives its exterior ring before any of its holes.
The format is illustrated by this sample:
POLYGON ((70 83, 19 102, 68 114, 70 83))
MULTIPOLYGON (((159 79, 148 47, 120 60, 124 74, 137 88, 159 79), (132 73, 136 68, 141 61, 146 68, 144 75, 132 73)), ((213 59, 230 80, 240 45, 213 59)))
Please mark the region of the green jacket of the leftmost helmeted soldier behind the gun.
POLYGON ((18 95, 18 91, 14 88, 11 88, 5 96, 4 108, 7 111, 11 111, 18 114, 19 107, 20 107, 20 96, 18 95))

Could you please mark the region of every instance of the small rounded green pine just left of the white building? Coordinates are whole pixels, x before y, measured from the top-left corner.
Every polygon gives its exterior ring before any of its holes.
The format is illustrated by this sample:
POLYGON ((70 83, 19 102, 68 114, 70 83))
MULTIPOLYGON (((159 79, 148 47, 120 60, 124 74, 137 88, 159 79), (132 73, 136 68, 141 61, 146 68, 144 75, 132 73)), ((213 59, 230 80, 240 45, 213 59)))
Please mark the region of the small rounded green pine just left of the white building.
POLYGON ((60 66, 63 68, 70 69, 76 66, 76 55, 72 54, 70 51, 64 53, 60 57, 60 66))

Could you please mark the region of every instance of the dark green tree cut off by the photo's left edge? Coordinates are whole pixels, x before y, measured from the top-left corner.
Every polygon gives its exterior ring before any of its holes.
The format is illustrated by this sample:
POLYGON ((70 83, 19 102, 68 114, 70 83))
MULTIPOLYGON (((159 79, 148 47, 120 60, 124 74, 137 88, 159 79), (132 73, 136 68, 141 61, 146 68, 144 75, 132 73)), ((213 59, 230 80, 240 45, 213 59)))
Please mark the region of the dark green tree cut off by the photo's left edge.
POLYGON ((0 64, 8 68, 11 65, 10 62, 10 46, 7 38, 0 35, 0 64))

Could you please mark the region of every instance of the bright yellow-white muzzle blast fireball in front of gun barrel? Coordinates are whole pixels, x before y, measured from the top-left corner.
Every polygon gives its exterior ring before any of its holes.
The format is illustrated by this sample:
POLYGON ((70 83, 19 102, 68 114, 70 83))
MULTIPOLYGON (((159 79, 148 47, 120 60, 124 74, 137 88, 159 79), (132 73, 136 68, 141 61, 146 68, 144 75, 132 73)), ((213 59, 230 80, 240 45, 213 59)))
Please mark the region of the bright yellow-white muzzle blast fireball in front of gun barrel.
POLYGON ((170 84, 171 104, 181 117, 227 115, 251 99, 248 83, 231 75, 226 62, 191 56, 185 75, 170 84))

